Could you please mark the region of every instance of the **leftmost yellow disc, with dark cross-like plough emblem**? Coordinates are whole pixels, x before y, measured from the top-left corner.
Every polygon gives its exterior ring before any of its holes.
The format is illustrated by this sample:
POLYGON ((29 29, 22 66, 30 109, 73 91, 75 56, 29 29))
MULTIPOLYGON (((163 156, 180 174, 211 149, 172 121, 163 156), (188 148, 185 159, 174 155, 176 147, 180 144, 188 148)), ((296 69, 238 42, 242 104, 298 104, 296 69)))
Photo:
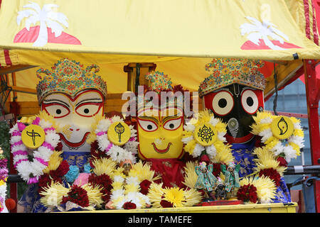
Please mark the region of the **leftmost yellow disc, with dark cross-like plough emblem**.
POLYGON ((46 133, 40 126, 26 126, 21 133, 21 140, 27 148, 39 148, 46 139, 46 133))

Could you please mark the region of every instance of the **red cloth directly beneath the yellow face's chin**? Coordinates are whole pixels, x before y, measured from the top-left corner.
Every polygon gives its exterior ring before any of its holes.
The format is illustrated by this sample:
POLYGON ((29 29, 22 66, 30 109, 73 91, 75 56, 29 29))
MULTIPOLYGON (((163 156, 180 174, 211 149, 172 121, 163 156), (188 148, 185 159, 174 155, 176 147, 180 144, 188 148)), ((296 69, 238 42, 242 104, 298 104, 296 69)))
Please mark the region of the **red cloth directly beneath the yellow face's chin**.
POLYGON ((167 159, 147 159, 146 162, 151 166, 151 170, 154 170, 156 176, 160 176, 163 182, 162 187, 180 187, 185 189, 186 185, 182 182, 184 181, 184 167, 185 162, 178 160, 177 158, 167 158, 167 159))

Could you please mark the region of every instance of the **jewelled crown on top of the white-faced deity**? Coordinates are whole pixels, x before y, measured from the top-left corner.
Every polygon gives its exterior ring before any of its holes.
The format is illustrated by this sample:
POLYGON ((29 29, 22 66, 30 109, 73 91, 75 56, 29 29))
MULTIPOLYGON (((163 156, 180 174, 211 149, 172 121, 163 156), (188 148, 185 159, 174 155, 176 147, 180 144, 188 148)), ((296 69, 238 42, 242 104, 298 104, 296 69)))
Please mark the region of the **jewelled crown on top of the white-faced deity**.
POLYGON ((36 72, 41 79, 36 87, 39 104, 44 97, 55 92, 75 96, 85 89, 97 89, 103 96, 107 96, 107 84, 96 74, 100 71, 98 65, 90 65, 84 69, 80 62, 65 58, 51 69, 52 71, 41 68, 36 72), (46 75, 41 77, 41 74, 46 75))

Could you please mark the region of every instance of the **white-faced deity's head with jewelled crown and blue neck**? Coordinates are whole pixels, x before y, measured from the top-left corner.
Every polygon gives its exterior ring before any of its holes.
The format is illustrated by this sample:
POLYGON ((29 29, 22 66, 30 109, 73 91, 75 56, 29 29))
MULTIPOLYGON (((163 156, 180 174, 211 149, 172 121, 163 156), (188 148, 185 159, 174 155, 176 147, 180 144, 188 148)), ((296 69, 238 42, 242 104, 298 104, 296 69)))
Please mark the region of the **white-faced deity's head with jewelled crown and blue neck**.
POLYGON ((86 143, 94 116, 103 115, 107 84, 96 73, 97 65, 83 68, 79 62, 63 59, 52 71, 40 69, 37 86, 41 111, 55 118, 63 143, 63 158, 80 170, 90 155, 86 143), (46 74, 43 78, 41 74, 46 74))

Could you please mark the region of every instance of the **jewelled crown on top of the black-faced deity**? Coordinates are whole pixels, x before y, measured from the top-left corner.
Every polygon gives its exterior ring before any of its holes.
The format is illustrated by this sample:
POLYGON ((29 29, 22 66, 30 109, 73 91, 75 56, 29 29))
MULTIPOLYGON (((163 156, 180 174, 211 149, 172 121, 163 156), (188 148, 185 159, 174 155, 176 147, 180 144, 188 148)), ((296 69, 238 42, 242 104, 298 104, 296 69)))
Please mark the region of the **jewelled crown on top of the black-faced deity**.
POLYGON ((199 96, 235 83, 264 90, 265 77, 259 71, 264 65, 261 60, 214 58, 206 64, 211 74, 200 84, 199 96))

